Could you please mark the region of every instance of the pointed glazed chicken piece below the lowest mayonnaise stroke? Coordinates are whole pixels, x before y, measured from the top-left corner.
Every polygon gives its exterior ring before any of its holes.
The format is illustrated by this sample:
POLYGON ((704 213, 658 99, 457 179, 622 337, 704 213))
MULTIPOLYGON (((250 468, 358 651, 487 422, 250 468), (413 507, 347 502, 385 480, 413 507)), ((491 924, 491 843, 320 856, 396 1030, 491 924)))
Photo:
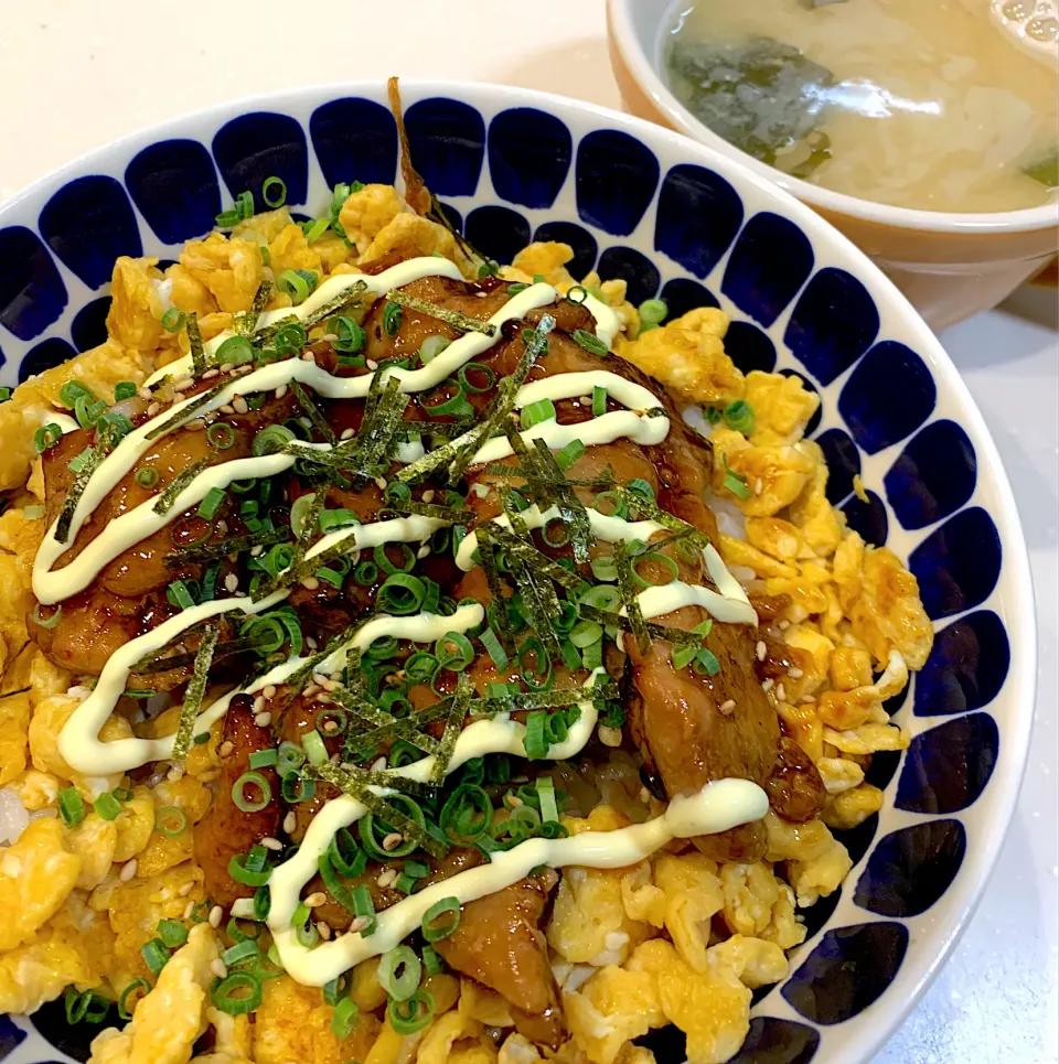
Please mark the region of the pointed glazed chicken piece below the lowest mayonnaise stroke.
POLYGON ((541 878, 524 879, 469 902, 456 933, 435 948, 457 971, 503 995, 533 1027, 533 1038, 558 1047, 565 1032, 541 932, 546 886, 541 878))

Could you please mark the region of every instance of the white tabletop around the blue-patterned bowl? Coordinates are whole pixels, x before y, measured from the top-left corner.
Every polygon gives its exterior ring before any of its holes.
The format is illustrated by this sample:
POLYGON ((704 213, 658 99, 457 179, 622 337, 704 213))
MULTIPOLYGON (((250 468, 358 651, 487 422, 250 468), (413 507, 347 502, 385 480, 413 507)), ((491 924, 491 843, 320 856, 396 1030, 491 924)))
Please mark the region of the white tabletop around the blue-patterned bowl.
MULTIPOLYGON (((0 198, 170 116, 250 93, 391 74, 501 82, 620 106, 602 0, 4 0, 0 198)), ((942 341, 993 431, 1026 530, 1039 611, 1038 719, 982 905, 876 1064, 1047 1064, 1059 1061, 1059 344, 1055 332, 999 311, 942 341)))

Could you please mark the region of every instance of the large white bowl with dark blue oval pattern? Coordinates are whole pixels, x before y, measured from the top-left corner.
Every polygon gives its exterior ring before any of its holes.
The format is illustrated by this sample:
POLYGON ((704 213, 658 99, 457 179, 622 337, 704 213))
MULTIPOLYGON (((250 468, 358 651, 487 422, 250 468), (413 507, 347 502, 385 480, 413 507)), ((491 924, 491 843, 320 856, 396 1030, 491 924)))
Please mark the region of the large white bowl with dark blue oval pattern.
MULTIPOLYGON (((413 157, 471 243, 500 261, 573 245, 580 277, 635 303, 720 305, 742 369, 779 368, 823 400, 811 426, 828 495, 907 559, 938 634, 891 708, 913 734, 879 754, 878 816, 843 832, 855 867, 807 913, 791 976, 759 993, 740 1064, 867 1061, 937 974, 996 859, 1034 703, 1033 595, 999 458, 938 341, 815 214, 737 163, 623 115, 486 85, 405 84, 413 157), (853 494, 859 473, 868 502, 853 494)), ((172 258, 276 174, 319 213, 339 181, 394 181, 377 83, 233 104, 129 137, 0 206, 0 384, 99 343, 119 255, 172 258)), ((62 1006, 0 1018, 0 1061, 87 1057, 62 1006), (72 1054, 66 1056, 64 1054, 72 1054)), ((680 1041, 665 1064, 682 1060, 680 1041)))

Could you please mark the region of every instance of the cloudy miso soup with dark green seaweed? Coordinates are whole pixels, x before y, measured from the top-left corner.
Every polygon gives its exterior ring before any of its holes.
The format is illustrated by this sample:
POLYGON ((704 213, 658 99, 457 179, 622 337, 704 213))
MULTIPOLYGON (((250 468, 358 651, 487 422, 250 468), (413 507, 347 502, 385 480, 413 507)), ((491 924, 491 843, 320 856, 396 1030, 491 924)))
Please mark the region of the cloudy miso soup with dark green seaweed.
POLYGON ((792 176, 923 211, 1059 192, 1059 77, 988 0, 695 0, 663 41, 696 118, 792 176))

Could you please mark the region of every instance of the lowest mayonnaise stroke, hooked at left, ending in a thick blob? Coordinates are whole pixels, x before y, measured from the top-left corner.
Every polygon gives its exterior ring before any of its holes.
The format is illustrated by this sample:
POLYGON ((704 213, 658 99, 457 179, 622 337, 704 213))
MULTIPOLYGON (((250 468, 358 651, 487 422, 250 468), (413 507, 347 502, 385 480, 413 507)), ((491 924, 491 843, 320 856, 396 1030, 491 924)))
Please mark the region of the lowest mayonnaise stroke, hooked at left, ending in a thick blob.
POLYGON ((530 839, 506 852, 493 853, 488 864, 432 883, 379 913, 373 935, 365 938, 347 932, 309 949, 298 943, 290 923, 299 893, 315 873, 317 861, 334 832, 365 813, 359 802, 343 796, 317 814, 298 853, 272 872, 268 927, 290 976, 306 986, 320 987, 362 960, 393 949, 421 925, 427 910, 445 898, 454 896, 466 904, 517 883, 539 864, 627 868, 673 839, 726 831, 759 820, 768 808, 768 797, 757 784, 748 780, 718 780, 696 794, 674 798, 662 816, 645 824, 614 831, 587 831, 566 839, 530 839))

